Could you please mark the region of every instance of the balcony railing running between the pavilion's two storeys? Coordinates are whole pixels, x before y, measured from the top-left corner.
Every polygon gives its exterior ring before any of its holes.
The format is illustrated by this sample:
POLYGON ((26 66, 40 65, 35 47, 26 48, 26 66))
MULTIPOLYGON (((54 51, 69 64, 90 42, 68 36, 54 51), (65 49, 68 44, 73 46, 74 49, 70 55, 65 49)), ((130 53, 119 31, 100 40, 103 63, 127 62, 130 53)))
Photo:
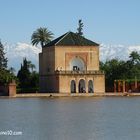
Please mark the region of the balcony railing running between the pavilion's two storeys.
POLYGON ((104 74, 104 71, 88 70, 88 71, 55 71, 56 74, 104 74))

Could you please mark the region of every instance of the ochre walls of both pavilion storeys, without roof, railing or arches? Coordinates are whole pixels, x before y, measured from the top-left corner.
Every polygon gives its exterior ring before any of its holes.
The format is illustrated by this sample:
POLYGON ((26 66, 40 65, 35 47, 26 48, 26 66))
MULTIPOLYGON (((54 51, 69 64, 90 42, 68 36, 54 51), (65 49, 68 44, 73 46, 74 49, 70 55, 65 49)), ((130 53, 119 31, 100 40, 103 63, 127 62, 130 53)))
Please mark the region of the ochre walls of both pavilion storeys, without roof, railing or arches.
POLYGON ((104 74, 54 74, 55 70, 70 70, 70 61, 76 56, 84 61, 87 71, 99 70, 99 47, 97 46, 51 46, 43 48, 42 53, 39 54, 40 91, 69 93, 71 80, 76 80, 78 92, 78 83, 80 79, 84 79, 87 87, 88 81, 93 80, 94 92, 104 92, 104 74))

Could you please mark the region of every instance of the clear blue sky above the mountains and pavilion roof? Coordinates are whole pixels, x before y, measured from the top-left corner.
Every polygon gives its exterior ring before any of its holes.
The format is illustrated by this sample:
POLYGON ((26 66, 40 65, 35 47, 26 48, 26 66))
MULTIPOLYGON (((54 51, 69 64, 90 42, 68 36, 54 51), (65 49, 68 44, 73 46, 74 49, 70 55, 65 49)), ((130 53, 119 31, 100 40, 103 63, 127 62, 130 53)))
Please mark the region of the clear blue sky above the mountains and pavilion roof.
POLYGON ((2 42, 30 43, 38 27, 76 32, 78 19, 95 42, 140 45, 140 0, 0 0, 2 42))

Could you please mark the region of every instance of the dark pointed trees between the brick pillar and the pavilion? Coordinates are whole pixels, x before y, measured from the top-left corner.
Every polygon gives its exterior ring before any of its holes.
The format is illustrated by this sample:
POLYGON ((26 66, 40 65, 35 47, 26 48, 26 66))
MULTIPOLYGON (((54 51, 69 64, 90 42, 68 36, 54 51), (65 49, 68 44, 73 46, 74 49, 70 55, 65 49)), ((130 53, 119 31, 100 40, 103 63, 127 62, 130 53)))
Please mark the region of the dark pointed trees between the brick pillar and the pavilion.
POLYGON ((25 58, 17 74, 19 92, 36 92, 38 90, 39 74, 34 69, 35 65, 25 58))

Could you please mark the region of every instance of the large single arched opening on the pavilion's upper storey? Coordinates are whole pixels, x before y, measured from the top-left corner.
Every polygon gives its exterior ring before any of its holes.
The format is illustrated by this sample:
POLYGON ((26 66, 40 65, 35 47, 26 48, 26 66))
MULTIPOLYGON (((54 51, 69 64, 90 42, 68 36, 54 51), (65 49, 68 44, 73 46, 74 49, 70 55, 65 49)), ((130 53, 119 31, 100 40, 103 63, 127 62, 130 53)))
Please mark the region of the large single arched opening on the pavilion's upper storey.
POLYGON ((70 61, 70 70, 84 71, 86 69, 84 61, 80 57, 74 57, 70 61))

